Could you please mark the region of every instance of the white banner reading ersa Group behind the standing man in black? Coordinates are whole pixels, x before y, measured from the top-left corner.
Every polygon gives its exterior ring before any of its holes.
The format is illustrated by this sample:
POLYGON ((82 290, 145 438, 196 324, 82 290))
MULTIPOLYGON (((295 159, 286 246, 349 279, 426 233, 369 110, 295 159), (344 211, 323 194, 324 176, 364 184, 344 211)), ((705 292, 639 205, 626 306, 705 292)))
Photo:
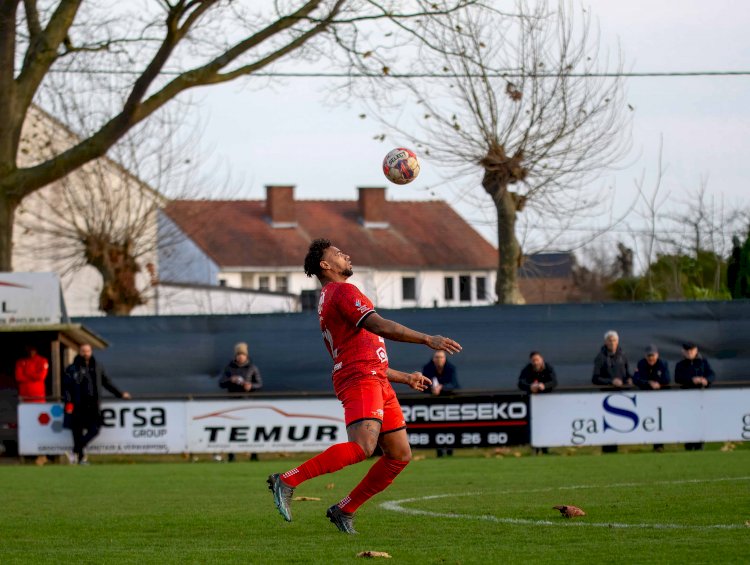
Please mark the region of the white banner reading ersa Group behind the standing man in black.
MULTIPOLYGON (((89 453, 182 453, 184 402, 104 402, 102 428, 89 453)), ((73 450, 73 434, 63 427, 62 404, 18 405, 21 455, 56 455, 73 450)))

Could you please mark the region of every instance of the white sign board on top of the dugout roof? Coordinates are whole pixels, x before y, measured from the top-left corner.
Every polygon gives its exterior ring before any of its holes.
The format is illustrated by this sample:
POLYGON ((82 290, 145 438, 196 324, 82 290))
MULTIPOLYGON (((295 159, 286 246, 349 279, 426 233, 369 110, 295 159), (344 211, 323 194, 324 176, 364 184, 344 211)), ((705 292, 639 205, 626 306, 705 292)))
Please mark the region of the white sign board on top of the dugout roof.
POLYGON ((60 279, 54 273, 0 273, 0 325, 59 324, 60 279))

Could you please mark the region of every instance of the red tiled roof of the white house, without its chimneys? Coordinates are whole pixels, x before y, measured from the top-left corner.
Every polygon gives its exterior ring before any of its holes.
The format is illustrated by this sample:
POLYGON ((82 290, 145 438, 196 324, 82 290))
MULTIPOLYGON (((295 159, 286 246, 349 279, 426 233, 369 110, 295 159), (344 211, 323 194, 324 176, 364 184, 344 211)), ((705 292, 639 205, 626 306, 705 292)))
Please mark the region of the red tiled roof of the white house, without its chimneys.
POLYGON ((272 227, 264 200, 176 200, 167 215, 220 267, 300 267, 307 247, 330 239, 355 266, 497 268, 497 249, 443 201, 387 201, 388 228, 359 221, 356 200, 296 200, 297 226, 272 227))

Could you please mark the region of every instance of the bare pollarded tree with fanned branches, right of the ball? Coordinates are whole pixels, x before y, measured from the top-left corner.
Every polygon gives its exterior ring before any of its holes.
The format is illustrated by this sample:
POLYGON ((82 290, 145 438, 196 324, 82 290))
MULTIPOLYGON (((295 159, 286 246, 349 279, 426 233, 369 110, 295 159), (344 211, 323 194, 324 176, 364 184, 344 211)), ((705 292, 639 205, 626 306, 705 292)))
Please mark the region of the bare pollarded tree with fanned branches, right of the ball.
MULTIPOLYGON (((589 15, 576 20, 562 2, 515 7, 513 17, 467 11, 425 20, 442 49, 421 50, 420 67, 439 76, 403 79, 420 104, 420 127, 395 127, 447 168, 481 172, 497 213, 500 303, 523 300, 519 215, 531 212, 559 234, 596 218, 602 195, 590 183, 629 147, 621 63, 606 72, 589 15)), ((380 100, 375 108, 387 111, 380 100)))

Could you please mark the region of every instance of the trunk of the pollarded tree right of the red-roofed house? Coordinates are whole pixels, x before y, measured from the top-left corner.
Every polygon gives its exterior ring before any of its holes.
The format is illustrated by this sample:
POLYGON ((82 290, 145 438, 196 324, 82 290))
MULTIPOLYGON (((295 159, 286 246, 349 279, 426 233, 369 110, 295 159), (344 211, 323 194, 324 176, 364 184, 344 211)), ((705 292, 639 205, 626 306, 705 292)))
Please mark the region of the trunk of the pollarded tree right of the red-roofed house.
POLYGON ((524 304, 526 301, 518 288, 518 267, 521 265, 521 246, 516 238, 518 196, 510 192, 508 185, 497 177, 492 171, 486 171, 482 181, 497 210, 497 303, 524 304))

